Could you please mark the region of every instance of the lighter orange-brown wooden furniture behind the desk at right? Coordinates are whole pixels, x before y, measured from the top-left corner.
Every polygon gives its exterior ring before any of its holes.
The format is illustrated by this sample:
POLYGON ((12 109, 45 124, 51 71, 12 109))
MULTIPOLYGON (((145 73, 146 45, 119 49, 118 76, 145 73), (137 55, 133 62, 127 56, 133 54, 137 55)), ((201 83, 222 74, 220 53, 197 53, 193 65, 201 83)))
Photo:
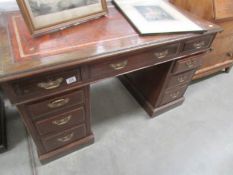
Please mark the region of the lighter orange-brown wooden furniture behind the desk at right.
POLYGON ((196 16, 220 25, 224 31, 213 42, 212 52, 203 58, 203 64, 194 79, 219 71, 229 72, 233 65, 233 1, 232 0, 170 0, 196 16))

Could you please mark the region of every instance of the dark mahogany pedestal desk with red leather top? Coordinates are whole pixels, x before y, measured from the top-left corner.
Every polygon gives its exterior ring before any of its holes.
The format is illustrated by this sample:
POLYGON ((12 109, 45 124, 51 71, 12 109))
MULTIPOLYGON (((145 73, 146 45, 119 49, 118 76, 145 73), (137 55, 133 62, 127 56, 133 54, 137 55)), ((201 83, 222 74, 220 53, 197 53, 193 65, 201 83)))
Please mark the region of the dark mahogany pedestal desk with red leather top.
POLYGON ((33 39, 19 12, 2 13, 1 87, 17 106, 39 159, 93 143, 90 84, 98 80, 122 75, 150 116, 180 105, 202 55, 221 31, 192 19, 207 32, 142 37, 110 7, 106 17, 33 39))

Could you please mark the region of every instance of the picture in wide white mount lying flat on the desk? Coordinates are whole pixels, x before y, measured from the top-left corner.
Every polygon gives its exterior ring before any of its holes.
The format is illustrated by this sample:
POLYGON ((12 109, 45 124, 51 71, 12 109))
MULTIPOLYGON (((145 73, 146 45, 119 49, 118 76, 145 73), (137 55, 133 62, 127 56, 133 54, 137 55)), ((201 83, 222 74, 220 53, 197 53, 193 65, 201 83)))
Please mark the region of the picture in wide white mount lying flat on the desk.
POLYGON ((156 0, 114 0, 140 34, 204 32, 171 4, 156 0))

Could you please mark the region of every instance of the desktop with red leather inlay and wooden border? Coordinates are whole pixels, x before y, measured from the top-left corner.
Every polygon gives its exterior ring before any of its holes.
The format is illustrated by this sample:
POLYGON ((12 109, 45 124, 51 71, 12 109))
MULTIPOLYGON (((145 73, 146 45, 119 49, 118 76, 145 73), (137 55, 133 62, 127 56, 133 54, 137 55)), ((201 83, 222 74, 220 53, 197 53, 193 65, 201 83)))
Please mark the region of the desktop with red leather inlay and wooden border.
MULTIPOLYGON (((204 20, 190 18, 209 33, 221 30, 204 20)), ((19 12, 1 13, 0 81, 200 35, 186 33, 142 37, 110 6, 106 17, 33 39, 19 12)))

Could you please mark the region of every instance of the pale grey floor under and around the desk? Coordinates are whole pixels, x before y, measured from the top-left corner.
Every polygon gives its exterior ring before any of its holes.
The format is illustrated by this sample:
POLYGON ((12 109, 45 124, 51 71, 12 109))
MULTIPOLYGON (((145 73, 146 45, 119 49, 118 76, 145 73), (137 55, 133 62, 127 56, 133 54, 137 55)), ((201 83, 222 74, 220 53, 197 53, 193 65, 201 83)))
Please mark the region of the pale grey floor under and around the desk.
POLYGON ((150 119, 117 79, 98 82, 91 91, 95 144, 42 166, 34 146, 30 156, 22 123, 13 115, 10 150, 0 155, 0 170, 4 175, 232 175, 232 87, 233 72, 194 83, 182 106, 150 119))

